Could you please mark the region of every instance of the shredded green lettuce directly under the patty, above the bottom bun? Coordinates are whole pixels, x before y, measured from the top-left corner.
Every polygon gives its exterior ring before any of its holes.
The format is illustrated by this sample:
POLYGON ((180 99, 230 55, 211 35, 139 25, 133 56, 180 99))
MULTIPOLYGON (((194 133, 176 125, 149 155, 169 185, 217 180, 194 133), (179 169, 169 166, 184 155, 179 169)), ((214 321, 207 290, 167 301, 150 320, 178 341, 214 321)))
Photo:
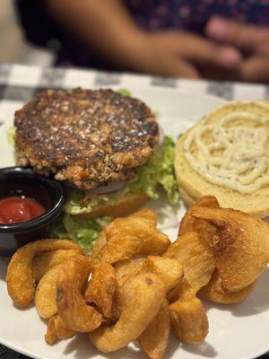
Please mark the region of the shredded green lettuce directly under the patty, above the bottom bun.
POLYGON ((168 195, 171 204, 179 200, 177 180, 174 171, 175 144, 172 139, 165 137, 158 153, 142 166, 125 188, 110 195, 89 196, 83 200, 85 193, 72 189, 67 197, 65 211, 71 215, 91 213, 95 206, 103 203, 115 205, 128 194, 146 193, 148 197, 157 199, 162 187, 168 195))

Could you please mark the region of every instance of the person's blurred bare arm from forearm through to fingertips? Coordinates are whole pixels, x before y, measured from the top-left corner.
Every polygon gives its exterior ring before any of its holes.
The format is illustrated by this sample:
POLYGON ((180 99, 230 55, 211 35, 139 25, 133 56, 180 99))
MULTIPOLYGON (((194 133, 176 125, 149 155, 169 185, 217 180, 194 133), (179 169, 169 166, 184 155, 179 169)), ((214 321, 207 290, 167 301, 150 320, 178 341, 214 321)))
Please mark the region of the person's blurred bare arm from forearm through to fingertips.
POLYGON ((201 64, 237 66, 238 51, 184 31, 144 31, 120 0, 46 0, 65 28, 123 70, 199 77, 201 64))

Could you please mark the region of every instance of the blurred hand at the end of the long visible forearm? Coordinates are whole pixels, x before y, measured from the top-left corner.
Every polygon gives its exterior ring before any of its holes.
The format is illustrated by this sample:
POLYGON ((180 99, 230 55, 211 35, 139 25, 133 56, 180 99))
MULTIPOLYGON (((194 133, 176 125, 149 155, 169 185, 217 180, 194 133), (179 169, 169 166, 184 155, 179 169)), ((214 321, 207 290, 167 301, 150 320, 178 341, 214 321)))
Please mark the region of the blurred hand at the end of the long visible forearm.
POLYGON ((163 76, 199 78, 203 66, 237 69, 239 51, 231 46, 217 45, 184 31, 156 31, 129 38, 121 52, 122 65, 136 71, 163 76))

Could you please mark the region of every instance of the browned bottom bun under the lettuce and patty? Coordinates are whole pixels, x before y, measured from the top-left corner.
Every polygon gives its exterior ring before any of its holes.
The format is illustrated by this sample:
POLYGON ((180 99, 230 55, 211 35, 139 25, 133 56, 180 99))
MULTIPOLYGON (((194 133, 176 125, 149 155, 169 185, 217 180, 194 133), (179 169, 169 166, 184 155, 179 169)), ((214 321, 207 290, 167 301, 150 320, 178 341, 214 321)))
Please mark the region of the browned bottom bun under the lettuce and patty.
POLYGON ((125 217, 131 215, 139 207, 143 206, 145 202, 149 200, 149 197, 145 193, 129 194, 126 195, 116 205, 109 205, 108 203, 96 206, 91 213, 78 215, 83 219, 90 219, 99 217, 100 215, 111 215, 112 217, 125 217))

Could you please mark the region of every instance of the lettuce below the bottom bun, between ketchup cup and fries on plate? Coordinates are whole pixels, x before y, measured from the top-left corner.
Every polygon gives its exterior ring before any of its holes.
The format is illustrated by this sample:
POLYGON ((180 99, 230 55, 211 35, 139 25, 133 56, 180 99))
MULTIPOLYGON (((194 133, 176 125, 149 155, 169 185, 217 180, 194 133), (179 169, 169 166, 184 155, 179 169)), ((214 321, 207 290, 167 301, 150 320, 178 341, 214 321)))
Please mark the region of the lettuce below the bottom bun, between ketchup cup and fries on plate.
POLYGON ((86 220, 65 213, 51 227, 50 236, 76 241, 85 252, 90 253, 102 227, 111 220, 112 217, 108 216, 86 220))

